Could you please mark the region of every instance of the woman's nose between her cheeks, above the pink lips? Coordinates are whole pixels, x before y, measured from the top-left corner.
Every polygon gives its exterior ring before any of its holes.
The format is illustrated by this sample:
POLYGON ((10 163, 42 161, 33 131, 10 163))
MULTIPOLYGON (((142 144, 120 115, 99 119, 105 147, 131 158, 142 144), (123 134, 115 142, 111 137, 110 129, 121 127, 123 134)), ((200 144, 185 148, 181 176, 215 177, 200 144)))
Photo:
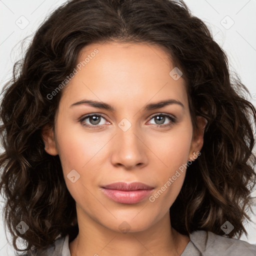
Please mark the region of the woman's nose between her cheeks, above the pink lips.
POLYGON ((143 135, 131 126, 128 130, 117 130, 112 141, 111 163, 125 169, 142 168, 148 162, 148 148, 143 143, 143 135))

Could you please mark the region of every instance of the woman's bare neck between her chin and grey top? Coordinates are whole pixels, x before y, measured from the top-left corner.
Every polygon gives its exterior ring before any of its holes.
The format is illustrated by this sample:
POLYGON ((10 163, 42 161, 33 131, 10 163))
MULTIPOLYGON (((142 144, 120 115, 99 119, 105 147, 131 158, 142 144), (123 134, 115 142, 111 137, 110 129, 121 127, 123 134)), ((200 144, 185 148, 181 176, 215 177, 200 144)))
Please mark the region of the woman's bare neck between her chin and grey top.
POLYGON ((69 243, 71 256, 178 256, 190 240, 171 227, 169 212, 160 221, 137 232, 111 230, 87 215, 79 218, 79 211, 77 220, 79 233, 69 243))

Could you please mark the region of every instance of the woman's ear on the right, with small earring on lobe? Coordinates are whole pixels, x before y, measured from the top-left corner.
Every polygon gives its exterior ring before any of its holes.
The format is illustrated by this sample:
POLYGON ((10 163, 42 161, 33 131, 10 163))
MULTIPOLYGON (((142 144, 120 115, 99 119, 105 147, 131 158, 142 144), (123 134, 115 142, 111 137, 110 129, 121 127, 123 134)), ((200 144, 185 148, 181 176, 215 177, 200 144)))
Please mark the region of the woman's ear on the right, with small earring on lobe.
POLYGON ((203 145, 203 133, 207 124, 207 120, 199 115, 196 116, 196 119, 198 128, 195 129, 193 132, 188 160, 195 160, 197 157, 195 154, 198 154, 197 152, 200 152, 203 145))

